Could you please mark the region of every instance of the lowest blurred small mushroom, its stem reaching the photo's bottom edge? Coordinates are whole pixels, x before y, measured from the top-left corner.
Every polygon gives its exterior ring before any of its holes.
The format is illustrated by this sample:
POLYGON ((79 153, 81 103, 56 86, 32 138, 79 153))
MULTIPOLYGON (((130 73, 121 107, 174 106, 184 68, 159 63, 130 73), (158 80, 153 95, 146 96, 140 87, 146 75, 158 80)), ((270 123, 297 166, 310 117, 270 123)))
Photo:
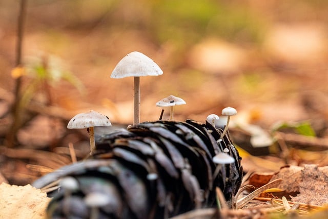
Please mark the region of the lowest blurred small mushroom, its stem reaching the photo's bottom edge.
POLYGON ((90 219, 97 219, 99 217, 99 208, 108 205, 110 197, 100 192, 92 192, 84 198, 84 201, 87 206, 91 207, 90 219))

